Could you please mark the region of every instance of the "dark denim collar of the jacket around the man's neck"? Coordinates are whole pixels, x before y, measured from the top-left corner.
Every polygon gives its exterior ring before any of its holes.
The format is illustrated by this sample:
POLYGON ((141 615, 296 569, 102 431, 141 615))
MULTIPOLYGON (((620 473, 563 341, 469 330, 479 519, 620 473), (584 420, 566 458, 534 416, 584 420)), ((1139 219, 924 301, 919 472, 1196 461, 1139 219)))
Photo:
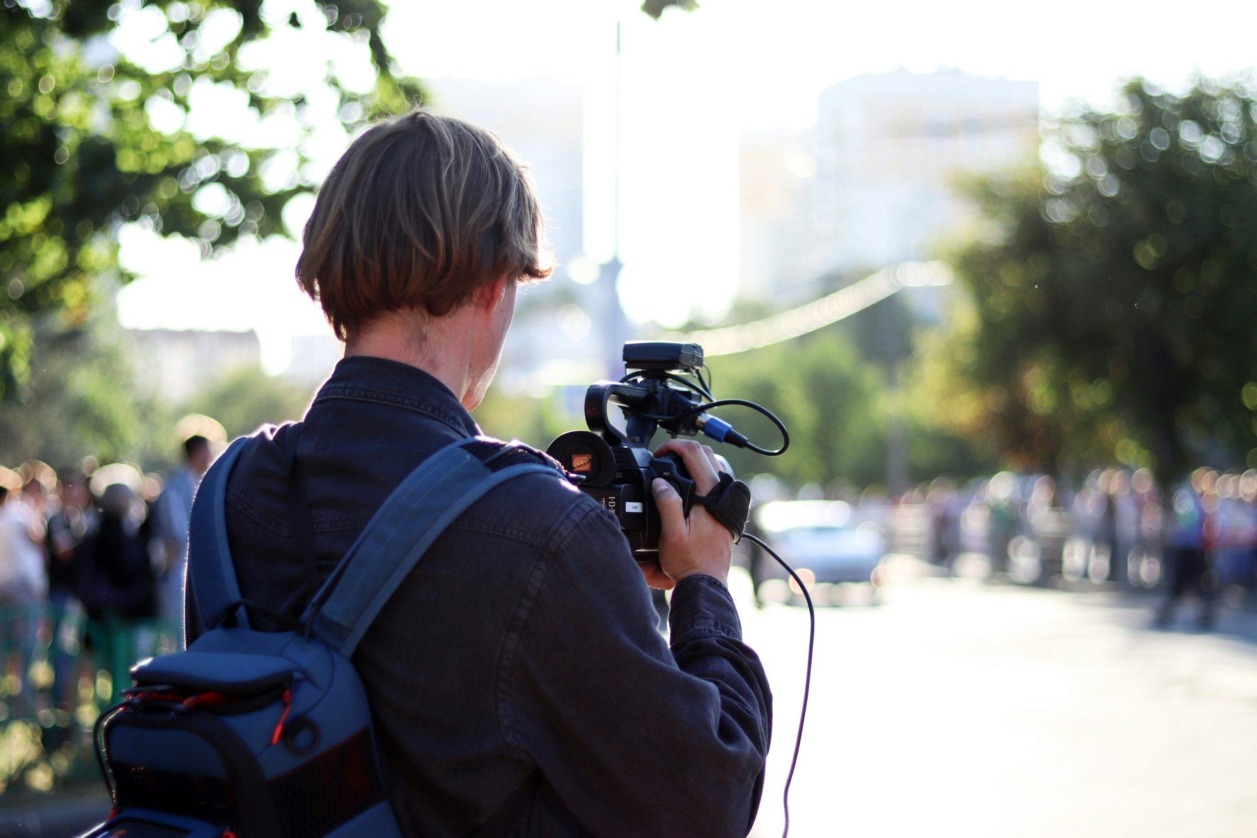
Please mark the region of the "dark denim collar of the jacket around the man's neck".
POLYGON ((450 388, 419 367, 353 356, 342 358, 314 397, 319 402, 347 398, 392 405, 435 418, 461 436, 479 436, 480 428, 450 388))

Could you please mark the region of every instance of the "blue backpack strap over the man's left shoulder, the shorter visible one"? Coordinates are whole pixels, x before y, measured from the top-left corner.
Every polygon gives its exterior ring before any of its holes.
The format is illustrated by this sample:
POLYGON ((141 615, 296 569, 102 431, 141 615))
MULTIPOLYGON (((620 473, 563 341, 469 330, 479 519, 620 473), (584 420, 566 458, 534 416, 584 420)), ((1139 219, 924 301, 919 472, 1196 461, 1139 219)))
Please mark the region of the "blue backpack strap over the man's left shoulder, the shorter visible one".
MULTIPOLYGON (((201 477, 192 500, 187 525, 187 578, 196 599, 201 631, 221 617, 229 604, 240 599, 240 585, 228 547, 228 477, 251 440, 250 436, 241 436, 222 452, 201 477)), ((241 611, 240 624, 248 626, 248 614, 241 611)))

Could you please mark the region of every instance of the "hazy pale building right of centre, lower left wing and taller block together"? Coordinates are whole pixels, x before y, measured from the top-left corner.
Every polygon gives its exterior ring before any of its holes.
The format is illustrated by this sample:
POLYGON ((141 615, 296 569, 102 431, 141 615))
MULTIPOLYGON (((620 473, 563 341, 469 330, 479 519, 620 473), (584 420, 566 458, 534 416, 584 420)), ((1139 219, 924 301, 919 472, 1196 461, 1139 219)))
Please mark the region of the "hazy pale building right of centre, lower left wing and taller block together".
POLYGON ((815 128, 743 134, 740 294, 929 258, 973 217, 958 177, 1033 161, 1038 121, 1037 82, 896 70, 823 90, 815 128))

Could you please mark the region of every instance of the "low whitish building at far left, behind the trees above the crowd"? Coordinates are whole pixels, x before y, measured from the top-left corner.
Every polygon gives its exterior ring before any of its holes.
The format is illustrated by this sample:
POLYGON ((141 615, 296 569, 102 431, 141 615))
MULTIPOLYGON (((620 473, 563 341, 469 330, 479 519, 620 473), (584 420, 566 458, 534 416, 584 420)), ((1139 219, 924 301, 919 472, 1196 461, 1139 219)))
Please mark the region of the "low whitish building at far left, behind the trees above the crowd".
POLYGON ((261 366, 258 333, 127 329, 141 388, 178 405, 243 368, 261 366))

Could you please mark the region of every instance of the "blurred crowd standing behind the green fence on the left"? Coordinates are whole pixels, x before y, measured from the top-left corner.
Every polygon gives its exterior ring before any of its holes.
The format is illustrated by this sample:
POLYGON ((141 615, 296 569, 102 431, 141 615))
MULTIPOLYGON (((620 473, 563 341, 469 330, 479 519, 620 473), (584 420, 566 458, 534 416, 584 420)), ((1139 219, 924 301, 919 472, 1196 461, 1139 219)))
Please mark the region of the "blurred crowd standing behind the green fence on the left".
POLYGON ((212 455, 184 442, 161 477, 113 464, 0 466, 0 606, 82 607, 98 621, 182 619, 187 521, 212 455))

